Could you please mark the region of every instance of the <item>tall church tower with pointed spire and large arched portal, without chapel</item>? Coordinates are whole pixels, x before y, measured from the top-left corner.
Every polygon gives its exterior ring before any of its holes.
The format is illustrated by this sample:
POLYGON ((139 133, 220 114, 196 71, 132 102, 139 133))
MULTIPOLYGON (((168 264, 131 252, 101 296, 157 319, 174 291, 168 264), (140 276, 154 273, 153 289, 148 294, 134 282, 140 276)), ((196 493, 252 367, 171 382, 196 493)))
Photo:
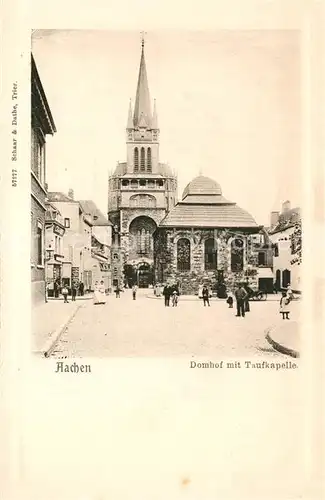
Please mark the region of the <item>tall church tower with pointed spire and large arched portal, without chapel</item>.
POLYGON ((129 104, 126 162, 108 180, 108 217, 113 224, 113 286, 154 283, 153 233, 174 207, 177 178, 159 161, 159 126, 147 78, 144 41, 134 109, 129 104))

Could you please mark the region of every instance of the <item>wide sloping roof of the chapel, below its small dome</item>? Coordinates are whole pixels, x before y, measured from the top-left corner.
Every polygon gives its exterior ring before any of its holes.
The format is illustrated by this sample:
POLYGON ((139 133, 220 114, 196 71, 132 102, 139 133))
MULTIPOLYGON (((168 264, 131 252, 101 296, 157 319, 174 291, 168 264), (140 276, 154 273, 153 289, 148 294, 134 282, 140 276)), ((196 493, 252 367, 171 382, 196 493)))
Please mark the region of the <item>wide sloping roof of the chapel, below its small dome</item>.
POLYGON ((178 203, 159 227, 241 227, 259 228, 254 218, 236 203, 178 203))

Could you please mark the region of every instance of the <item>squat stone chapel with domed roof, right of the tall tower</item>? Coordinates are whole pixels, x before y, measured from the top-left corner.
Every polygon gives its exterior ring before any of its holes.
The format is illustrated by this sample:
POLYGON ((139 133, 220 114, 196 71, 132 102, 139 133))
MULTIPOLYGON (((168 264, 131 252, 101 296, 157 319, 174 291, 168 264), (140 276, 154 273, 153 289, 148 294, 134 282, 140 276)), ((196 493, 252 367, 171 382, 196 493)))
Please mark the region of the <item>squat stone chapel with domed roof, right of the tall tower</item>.
POLYGON ((160 222, 154 249, 156 280, 179 283, 183 294, 197 293, 203 283, 224 293, 239 281, 273 286, 266 231, 203 175, 186 186, 182 200, 160 222))

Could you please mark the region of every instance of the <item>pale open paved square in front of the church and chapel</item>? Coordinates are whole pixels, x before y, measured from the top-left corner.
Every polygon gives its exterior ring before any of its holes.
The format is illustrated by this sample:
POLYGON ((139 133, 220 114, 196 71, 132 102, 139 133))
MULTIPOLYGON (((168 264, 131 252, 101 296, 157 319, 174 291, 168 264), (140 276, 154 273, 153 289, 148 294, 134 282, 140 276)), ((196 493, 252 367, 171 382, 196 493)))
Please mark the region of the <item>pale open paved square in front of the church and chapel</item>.
POLYGON ((237 318, 225 301, 204 307, 199 299, 180 298, 178 307, 167 308, 163 300, 147 298, 144 290, 135 301, 126 290, 120 299, 109 296, 105 305, 87 301, 52 356, 285 357, 265 340, 265 329, 280 321, 278 311, 277 302, 253 302, 251 312, 237 318))

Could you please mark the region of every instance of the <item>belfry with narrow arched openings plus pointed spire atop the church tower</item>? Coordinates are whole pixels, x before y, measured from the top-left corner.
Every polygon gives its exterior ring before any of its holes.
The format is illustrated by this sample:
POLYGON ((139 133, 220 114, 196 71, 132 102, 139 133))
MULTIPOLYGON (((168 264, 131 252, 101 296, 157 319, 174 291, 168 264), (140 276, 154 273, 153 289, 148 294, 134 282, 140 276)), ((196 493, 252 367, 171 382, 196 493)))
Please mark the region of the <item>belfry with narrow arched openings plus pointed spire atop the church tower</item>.
POLYGON ((126 127, 127 173, 157 174, 159 165, 159 128, 156 101, 153 113, 146 61, 144 57, 144 39, 141 42, 141 59, 134 110, 129 104, 126 127))

